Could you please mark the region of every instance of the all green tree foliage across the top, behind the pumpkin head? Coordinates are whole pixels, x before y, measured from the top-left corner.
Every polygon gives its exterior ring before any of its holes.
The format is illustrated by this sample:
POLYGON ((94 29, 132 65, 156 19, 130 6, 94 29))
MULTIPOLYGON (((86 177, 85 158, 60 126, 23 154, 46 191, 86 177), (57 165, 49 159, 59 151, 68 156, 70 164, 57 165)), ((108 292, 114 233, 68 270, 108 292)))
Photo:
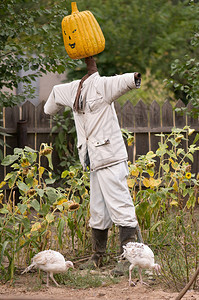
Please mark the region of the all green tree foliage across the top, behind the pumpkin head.
MULTIPOLYGON (((106 39, 105 51, 95 57, 100 74, 134 70, 143 76, 146 73, 146 89, 136 94, 143 100, 150 98, 155 82, 159 87, 156 94, 158 90, 164 94, 161 82, 168 78, 175 59, 185 54, 190 59, 197 57, 198 49, 193 49, 190 36, 198 22, 198 1, 80 0, 78 7, 93 12, 106 39)), ((47 71, 62 73, 77 65, 74 72, 68 70, 68 79, 85 74, 85 64, 69 59, 64 49, 60 24, 68 14, 66 9, 71 13, 70 3, 65 0, 12 0, 0 4, 0 89, 4 88, 0 106, 13 106, 31 98, 31 80, 47 71), (32 72, 21 77, 22 69, 32 72), (20 83, 26 84, 26 91, 15 95, 14 89, 20 83)), ((179 77, 175 80, 176 84, 182 83, 179 77)))

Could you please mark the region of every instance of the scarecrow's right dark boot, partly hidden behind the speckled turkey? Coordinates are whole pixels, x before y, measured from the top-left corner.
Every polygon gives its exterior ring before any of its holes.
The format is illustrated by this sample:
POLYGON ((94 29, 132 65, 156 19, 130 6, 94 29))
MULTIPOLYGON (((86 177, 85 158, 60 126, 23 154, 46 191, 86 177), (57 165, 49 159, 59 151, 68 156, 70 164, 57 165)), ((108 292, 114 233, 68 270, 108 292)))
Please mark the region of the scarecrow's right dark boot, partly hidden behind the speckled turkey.
MULTIPOLYGON (((136 228, 119 226, 119 240, 120 240, 120 255, 123 253, 123 246, 128 242, 136 241, 136 228)), ((128 272, 129 262, 126 260, 119 261, 117 266, 111 271, 114 276, 123 276, 128 272)))

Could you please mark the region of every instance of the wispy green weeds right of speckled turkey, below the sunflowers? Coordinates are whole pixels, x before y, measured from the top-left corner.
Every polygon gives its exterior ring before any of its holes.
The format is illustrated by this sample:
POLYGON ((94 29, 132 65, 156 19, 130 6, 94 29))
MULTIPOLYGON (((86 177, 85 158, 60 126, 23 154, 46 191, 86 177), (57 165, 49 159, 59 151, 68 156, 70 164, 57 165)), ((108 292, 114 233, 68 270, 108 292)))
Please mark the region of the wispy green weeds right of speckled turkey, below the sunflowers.
MULTIPOLYGON (((167 214, 158 226, 152 243, 162 265, 161 281, 172 290, 180 291, 198 266, 199 236, 197 210, 179 210, 167 214)), ((196 281, 193 288, 196 288, 196 281)))

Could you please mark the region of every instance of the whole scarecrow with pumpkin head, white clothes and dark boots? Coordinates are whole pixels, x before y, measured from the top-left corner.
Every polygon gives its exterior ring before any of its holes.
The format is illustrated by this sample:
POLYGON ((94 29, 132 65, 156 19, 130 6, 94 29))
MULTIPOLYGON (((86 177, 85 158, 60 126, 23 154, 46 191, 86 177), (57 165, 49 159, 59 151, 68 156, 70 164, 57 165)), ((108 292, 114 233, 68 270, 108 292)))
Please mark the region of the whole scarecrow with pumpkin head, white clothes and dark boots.
POLYGON ((114 109, 114 101, 140 87, 139 73, 101 77, 93 55, 105 48, 105 39, 90 11, 62 20, 65 49, 72 59, 85 58, 88 73, 81 79, 53 87, 44 106, 55 114, 61 106, 73 110, 77 148, 84 170, 90 169, 90 221, 93 255, 87 266, 100 267, 106 251, 108 229, 119 226, 120 249, 135 241, 137 218, 127 185, 128 155, 114 109))

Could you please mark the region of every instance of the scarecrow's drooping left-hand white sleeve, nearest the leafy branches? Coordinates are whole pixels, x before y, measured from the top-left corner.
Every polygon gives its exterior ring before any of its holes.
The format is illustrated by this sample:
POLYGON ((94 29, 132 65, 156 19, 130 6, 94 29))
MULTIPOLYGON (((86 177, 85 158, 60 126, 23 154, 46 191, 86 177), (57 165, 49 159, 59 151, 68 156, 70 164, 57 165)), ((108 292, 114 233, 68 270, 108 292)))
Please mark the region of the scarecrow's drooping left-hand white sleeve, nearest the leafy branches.
POLYGON ((71 104, 71 84, 55 85, 44 105, 45 114, 54 115, 62 106, 70 106, 71 104))

